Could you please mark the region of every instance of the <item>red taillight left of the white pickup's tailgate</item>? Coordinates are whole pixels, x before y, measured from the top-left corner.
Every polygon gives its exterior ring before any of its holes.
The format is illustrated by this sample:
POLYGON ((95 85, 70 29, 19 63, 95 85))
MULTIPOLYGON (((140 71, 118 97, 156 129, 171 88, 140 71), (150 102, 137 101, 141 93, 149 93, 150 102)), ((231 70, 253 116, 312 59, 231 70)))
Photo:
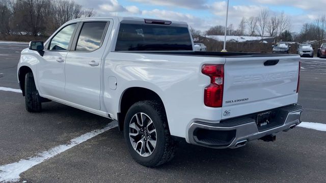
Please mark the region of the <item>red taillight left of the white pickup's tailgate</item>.
POLYGON ((203 65, 202 73, 210 77, 210 84, 205 87, 204 103, 208 107, 222 107, 224 65, 203 65))

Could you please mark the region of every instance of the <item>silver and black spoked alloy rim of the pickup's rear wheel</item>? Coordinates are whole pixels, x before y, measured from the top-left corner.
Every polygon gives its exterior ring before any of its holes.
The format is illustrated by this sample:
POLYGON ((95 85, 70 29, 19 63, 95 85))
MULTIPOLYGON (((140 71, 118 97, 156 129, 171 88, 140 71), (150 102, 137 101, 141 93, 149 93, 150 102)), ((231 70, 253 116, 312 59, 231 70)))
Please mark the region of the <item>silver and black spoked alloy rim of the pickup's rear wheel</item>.
POLYGON ((142 157, 153 154, 156 147, 156 129, 152 119, 139 112, 132 116, 129 123, 129 139, 133 149, 142 157))

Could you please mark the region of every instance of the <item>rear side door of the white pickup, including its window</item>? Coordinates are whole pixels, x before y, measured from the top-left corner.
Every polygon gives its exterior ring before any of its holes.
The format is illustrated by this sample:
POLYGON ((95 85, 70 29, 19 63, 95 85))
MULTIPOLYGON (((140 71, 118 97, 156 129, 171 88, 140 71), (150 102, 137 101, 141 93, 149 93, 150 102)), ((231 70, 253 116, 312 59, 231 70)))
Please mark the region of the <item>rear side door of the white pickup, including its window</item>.
POLYGON ((80 22, 66 57, 65 91, 69 102, 100 109, 103 40, 109 21, 80 22))

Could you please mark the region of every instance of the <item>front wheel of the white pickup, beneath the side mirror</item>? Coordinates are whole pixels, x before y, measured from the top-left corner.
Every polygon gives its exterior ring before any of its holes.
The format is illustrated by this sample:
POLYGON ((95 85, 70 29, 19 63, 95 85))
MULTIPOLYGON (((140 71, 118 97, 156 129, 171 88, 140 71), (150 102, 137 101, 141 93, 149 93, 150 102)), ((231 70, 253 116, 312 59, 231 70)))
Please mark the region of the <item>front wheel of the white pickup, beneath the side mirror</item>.
POLYGON ((33 73, 25 75, 25 105, 29 112, 40 112, 42 110, 41 97, 35 86, 33 73))

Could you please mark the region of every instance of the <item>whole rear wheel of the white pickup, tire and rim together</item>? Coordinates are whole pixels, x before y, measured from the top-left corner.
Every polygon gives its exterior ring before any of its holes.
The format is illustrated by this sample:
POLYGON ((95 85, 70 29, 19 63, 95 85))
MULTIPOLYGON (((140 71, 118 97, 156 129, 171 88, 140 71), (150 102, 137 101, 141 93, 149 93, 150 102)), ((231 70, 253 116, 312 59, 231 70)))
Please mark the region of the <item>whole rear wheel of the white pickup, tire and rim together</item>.
POLYGON ((131 157, 141 165, 155 167, 174 157, 175 141, 165 110, 157 101, 140 101, 129 108, 124 137, 131 157))

